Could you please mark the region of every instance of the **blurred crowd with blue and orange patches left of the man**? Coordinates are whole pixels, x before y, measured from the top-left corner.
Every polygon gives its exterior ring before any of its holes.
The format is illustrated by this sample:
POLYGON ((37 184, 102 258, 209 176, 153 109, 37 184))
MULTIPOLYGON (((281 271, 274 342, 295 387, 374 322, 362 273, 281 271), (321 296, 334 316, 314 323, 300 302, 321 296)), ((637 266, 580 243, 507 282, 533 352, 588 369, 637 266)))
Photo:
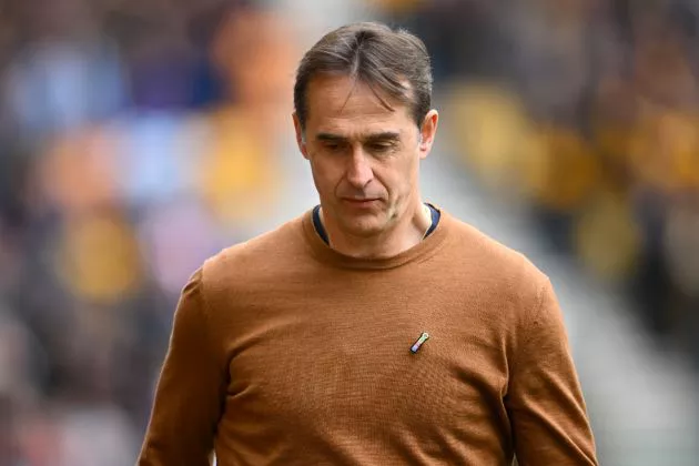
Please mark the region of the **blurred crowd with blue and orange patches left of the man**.
POLYGON ((0 2, 0 465, 133 464, 182 285, 278 194, 285 24, 0 2))

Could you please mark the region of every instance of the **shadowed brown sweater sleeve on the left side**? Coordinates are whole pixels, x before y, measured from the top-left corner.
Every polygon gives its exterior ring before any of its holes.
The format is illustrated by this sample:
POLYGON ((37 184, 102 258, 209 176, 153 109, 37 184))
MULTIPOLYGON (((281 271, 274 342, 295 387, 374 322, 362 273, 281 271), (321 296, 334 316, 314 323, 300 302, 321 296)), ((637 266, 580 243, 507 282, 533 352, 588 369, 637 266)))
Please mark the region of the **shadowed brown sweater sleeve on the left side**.
POLYGON ((213 350, 202 271, 180 296, 139 466, 209 466, 226 371, 213 350))

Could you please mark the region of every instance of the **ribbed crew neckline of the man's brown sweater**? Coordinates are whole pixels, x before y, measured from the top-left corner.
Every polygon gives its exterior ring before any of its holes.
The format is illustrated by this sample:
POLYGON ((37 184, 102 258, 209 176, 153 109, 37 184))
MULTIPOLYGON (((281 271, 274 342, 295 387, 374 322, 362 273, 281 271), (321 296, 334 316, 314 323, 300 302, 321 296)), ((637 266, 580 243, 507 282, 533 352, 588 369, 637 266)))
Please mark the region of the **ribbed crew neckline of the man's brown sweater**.
MULTIPOLYGON (((439 213, 439 222, 434 231, 413 247, 391 257, 358 259, 342 254, 332 249, 318 234, 313 224, 313 209, 308 210, 302 219, 304 237, 311 246, 314 255, 324 263, 342 269, 383 270, 405 265, 415 260, 428 256, 444 243, 447 236, 452 217, 438 206, 430 204, 439 213)), ((315 209, 315 207, 314 207, 315 209)))

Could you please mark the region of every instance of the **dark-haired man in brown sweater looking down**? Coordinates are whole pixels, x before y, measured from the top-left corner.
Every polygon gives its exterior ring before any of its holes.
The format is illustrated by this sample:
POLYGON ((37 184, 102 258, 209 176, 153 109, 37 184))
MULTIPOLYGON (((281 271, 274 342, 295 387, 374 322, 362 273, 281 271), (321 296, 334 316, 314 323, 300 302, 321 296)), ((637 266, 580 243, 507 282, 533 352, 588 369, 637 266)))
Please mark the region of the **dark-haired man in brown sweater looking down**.
POLYGON ((140 465, 596 465, 549 281, 425 204, 429 58, 359 23, 303 58, 321 203, 184 287, 140 465))

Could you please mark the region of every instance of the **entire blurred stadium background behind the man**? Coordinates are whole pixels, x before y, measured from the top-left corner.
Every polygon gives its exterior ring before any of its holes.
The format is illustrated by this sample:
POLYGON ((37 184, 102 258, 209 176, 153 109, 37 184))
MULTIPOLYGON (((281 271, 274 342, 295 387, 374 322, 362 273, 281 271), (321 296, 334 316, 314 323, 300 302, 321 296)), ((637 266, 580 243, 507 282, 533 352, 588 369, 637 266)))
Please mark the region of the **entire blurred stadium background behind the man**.
POLYGON ((600 462, 699 465, 695 0, 0 0, 0 465, 133 464, 179 292, 316 203, 292 85, 376 19, 434 60, 425 197, 556 286, 600 462))

